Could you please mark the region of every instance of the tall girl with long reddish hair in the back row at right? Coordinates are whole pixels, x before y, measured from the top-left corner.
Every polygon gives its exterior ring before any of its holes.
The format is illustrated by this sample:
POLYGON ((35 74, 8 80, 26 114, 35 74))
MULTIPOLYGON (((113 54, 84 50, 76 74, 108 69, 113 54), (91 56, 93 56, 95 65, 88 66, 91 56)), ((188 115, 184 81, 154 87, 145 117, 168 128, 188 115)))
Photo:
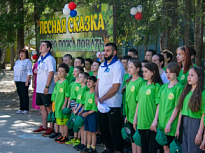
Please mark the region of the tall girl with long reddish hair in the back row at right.
POLYGON ((182 46, 177 48, 176 52, 177 52, 177 62, 181 69, 177 79, 183 86, 185 86, 187 83, 189 69, 193 66, 191 60, 192 50, 188 46, 182 46))

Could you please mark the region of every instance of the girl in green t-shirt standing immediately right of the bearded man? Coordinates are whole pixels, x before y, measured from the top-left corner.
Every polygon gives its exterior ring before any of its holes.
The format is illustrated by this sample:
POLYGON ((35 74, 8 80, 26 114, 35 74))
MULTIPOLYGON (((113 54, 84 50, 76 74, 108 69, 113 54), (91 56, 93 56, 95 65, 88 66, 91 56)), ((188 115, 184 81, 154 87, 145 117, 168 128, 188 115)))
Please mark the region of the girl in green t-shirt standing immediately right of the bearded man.
MULTIPOLYGON (((135 130, 133 128, 133 121, 135 116, 135 110, 137 106, 136 96, 144 82, 142 76, 142 65, 139 60, 133 59, 130 61, 128 65, 128 73, 132 77, 130 77, 126 82, 126 102, 125 102, 125 110, 126 110, 126 117, 125 123, 128 123, 131 136, 133 137, 135 130)), ((141 149, 134 143, 133 138, 131 138, 132 142, 132 152, 138 153, 141 149), (138 151, 139 150, 139 151, 138 151)))

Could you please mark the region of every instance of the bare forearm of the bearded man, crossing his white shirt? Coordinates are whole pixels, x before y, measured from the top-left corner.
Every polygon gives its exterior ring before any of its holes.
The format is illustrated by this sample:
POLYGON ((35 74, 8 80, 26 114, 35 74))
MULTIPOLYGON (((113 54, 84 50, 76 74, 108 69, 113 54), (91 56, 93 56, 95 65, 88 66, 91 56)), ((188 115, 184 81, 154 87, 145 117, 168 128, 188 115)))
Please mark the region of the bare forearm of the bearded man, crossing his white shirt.
POLYGON ((99 102, 103 103, 103 101, 113 97, 118 92, 119 88, 120 88, 120 83, 113 84, 110 90, 103 97, 99 99, 99 102))

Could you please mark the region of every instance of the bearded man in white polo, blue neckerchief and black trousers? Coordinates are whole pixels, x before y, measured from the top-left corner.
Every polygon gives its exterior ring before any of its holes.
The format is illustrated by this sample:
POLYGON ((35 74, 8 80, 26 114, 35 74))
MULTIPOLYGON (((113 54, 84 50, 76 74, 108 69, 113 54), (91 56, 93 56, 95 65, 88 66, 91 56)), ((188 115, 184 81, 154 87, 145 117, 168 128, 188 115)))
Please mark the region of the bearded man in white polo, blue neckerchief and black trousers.
POLYGON ((102 110, 99 110, 99 128, 106 146, 104 153, 123 152, 121 92, 125 70, 117 58, 117 46, 114 43, 105 45, 104 54, 105 62, 101 64, 98 70, 95 102, 107 105, 110 111, 102 112, 102 110))

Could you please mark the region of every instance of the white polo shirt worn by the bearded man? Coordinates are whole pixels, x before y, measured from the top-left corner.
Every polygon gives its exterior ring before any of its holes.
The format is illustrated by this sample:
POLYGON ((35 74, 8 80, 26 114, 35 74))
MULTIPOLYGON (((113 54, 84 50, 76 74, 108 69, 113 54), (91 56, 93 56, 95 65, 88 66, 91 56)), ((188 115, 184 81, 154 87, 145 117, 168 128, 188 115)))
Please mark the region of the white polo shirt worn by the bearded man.
MULTIPOLYGON (((101 64, 104 66, 104 63, 101 64)), ((103 102, 108 107, 121 107, 122 104, 122 83, 125 69, 120 61, 116 61, 114 64, 108 66, 108 70, 105 72, 106 67, 101 67, 98 70, 98 92, 99 98, 103 97, 115 83, 120 83, 118 92, 103 102)))

